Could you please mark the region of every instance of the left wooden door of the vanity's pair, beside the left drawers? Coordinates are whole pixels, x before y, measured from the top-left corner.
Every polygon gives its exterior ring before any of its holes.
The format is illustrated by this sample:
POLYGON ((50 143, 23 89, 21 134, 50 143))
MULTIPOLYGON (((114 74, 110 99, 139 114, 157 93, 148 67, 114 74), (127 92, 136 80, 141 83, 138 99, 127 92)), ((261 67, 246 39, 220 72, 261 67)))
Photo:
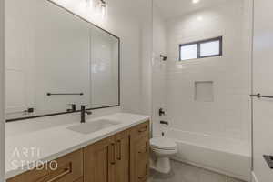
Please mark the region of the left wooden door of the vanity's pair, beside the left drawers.
POLYGON ((84 149, 84 181, 115 182, 115 137, 109 137, 84 149))

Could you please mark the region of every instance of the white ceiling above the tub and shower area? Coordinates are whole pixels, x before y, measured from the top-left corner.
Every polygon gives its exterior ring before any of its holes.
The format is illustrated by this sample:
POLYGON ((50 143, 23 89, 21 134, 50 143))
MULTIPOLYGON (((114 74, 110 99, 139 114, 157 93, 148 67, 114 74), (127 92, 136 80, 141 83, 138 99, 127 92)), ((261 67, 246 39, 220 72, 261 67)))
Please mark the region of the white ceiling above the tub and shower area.
POLYGON ((154 0, 154 4, 159 8, 165 18, 184 15, 212 5, 219 5, 230 0, 200 0, 193 4, 192 0, 154 0))

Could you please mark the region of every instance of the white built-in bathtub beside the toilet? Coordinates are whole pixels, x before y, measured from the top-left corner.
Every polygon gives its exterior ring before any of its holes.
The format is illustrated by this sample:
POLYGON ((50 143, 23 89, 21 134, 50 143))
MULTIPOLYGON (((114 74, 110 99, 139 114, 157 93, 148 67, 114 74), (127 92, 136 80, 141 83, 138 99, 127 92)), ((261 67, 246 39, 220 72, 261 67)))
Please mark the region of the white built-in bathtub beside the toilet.
POLYGON ((177 129, 168 129, 166 136, 177 141, 178 153, 173 159, 250 181, 251 150, 247 142, 214 138, 177 129))

